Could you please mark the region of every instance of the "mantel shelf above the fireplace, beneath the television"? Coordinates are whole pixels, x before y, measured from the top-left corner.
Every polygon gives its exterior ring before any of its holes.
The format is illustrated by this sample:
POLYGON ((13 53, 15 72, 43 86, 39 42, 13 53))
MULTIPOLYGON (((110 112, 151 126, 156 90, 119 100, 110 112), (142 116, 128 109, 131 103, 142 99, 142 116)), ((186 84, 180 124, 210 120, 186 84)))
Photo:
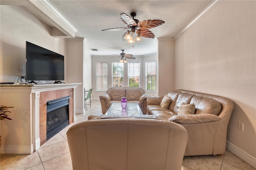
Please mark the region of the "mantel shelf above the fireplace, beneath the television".
POLYGON ((20 93, 35 93, 42 91, 61 90, 68 88, 76 88, 82 83, 63 83, 63 84, 1 84, 1 91, 20 92, 20 93), (10 88, 11 87, 11 88, 10 88))

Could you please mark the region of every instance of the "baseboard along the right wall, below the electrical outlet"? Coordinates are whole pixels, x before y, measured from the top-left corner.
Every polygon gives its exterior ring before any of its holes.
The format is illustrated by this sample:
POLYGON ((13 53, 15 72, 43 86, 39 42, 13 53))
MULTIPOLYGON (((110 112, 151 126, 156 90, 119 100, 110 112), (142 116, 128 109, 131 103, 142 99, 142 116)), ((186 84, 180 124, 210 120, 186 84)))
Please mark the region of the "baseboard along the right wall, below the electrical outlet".
POLYGON ((239 158, 244 160, 244 162, 246 162, 250 166, 256 168, 256 158, 252 157, 250 154, 247 154, 246 152, 244 152, 240 148, 234 146, 233 144, 231 144, 228 141, 226 142, 226 148, 230 152, 232 152, 233 154, 235 154, 236 156, 238 156, 239 158))

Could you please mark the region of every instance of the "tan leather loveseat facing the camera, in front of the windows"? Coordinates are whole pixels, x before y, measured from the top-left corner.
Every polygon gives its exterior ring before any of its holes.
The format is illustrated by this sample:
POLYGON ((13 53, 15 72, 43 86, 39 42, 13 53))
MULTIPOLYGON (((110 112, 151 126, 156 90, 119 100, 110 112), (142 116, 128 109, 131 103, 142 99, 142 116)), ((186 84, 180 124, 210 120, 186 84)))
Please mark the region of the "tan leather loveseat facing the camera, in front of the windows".
POLYGON ((112 103, 120 103, 122 97, 126 97, 128 103, 138 103, 140 109, 144 115, 146 115, 147 110, 147 94, 144 89, 140 87, 111 87, 106 93, 100 95, 100 104, 102 109, 102 114, 104 115, 106 111, 110 108, 112 103))

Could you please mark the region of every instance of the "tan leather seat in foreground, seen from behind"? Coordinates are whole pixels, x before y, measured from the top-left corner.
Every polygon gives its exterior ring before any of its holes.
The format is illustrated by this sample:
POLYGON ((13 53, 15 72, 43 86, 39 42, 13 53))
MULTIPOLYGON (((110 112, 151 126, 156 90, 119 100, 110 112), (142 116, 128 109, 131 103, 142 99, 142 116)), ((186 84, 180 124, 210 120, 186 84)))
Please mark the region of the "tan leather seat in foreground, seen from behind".
POLYGON ((155 119, 101 119, 68 129, 74 170, 180 170, 188 133, 155 119))

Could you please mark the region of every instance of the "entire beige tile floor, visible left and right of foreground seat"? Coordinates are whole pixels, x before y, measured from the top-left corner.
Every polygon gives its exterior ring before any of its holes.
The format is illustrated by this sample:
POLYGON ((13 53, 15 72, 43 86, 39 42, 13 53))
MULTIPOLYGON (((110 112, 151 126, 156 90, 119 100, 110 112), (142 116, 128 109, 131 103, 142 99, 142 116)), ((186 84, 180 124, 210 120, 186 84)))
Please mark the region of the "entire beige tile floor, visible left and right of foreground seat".
MULTIPOLYGON (((86 114, 76 114, 76 122, 50 138, 32 154, 1 154, 1 170, 72 170, 66 131, 86 121, 89 115, 102 115, 99 100, 92 100, 86 114)), ((226 150, 222 156, 184 156, 182 170, 256 170, 226 150)))

